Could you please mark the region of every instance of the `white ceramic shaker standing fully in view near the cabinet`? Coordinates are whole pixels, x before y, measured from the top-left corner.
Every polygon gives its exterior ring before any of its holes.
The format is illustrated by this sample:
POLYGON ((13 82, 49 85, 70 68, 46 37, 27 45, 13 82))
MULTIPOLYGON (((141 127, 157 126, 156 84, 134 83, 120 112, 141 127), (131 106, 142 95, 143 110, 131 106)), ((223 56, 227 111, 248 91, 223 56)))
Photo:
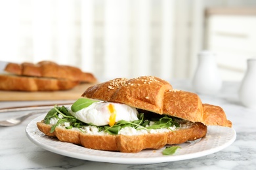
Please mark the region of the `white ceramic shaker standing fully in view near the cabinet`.
POLYGON ((197 93, 213 95, 222 87, 222 80, 213 52, 202 51, 198 54, 198 67, 192 80, 197 93))

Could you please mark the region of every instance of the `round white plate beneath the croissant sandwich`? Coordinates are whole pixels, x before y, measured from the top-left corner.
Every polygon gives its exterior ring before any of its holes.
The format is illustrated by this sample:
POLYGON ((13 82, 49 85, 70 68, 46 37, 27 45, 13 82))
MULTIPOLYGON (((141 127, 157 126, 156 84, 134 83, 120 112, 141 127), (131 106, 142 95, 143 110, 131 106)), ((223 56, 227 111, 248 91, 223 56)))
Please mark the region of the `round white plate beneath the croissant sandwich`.
POLYGON ((36 126, 36 122, 43 120, 44 117, 45 115, 41 115, 35 118, 26 127, 26 134, 30 141, 56 154, 89 161, 123 164, 150 164, 167 161, 189 160, 223 150, 232 144, 236 139, 236 131, 230 127, 208 126, 207 135, 198 143, 179 144, 181 148, 179 148, 175 154, 170 156, 165 156, 162 154, 162 150, 165 147, 159 150, 142 150, 141 152, 135 154, 108 152, 84 148, 83 146, 60 142, 58 139, 47 137, 41 133, 36 126))

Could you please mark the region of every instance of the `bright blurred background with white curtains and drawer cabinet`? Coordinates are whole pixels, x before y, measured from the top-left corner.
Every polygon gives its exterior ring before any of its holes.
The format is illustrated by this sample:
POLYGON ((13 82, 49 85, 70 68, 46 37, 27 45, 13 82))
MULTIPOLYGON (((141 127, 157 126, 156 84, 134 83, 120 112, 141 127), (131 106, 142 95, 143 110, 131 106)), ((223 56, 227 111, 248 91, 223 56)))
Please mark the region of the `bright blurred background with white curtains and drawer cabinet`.
POLYGON ((255 0, 0 0, 0 60, 51 60, 109 79, 192 78, 211 50, 223 80, 256 56, 255 0))

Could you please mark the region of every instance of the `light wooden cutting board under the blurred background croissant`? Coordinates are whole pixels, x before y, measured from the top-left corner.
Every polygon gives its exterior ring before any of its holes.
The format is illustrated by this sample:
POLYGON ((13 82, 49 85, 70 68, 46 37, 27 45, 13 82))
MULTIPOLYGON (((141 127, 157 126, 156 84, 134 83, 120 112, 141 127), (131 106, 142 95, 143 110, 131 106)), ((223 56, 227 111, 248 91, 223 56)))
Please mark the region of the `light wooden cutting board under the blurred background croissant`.
POLYGON ((0 91, 0 101, 40 101, 40 100, 68 100, 78 99, 91 83, 79 84, 72 90, 54 92, 13 92, 0 91))

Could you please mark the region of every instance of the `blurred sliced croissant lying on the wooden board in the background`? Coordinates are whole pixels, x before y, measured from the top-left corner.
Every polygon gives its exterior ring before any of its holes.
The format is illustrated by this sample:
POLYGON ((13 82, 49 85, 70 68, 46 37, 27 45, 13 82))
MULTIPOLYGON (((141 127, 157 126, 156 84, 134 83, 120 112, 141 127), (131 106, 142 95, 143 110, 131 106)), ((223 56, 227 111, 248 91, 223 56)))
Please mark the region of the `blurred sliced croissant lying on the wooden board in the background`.
POLYGON ((77 67, 58 65, 52 61, 39 63, 8 63, 5 74, 0 75, 0 90, 56 91, 70 90, 81 82, 95 83, 92 73, 84 73, 77 67))

